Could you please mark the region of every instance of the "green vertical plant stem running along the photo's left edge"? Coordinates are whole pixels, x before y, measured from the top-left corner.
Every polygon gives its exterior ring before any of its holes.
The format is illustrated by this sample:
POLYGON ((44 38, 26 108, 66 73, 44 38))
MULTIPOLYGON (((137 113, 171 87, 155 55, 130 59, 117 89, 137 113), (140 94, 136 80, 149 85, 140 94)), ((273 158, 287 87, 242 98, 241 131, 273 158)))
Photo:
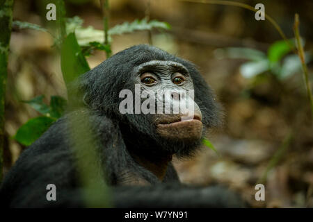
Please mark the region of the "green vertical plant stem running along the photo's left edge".
POLYGON ((0 182, 3 176, 4 107, 12 15, 13 0, 0 0, 0 182))

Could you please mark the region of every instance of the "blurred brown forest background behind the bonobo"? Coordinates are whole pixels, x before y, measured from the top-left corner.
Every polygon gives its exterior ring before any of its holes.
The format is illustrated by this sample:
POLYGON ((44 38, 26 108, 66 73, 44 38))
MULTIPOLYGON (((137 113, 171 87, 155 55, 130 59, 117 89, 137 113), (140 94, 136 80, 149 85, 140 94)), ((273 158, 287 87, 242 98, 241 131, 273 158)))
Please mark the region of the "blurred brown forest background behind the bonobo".
MULTIPOLYGON (((312 83, 313 1, 236 1, 253 8, 263 3, 287 39, 294 38, 294 15, 300 16, 312 83)), ((15 0, 13 20, 49 27, 49 1, 15 0)), ((313 207, 313 127, 300 61, 273 24, 257 21, 255 12, 236 6, 178 0, 111 0, 109 26, 135 19, 167 22, 166 31, 112 35, 113 54, 134 44, 149 44, 194 62, 215 90, 225 110, 225 124, 207 138, 218 154, 203 147, 175 167, 183 182, 223 184, 238 191, 253 207, 313 207), (150 38, 151 36, 151 38, 150 38), (265 201, 255 200, 255 185, 265 185, 265 201)), ((79 16, 83 27, 103 30, 98 0, 65 1, 67 17, 79 16)), ((106 59, 94 51, 90 68, 106 59)), ((14 139, 17 130, 39 113, 35 96, 66 98, 60 55, 48 33, 13 28, 6 89, 5 171, 26 148, 14 139)), ((312 84, 311 84, 312 85, 312 84)))

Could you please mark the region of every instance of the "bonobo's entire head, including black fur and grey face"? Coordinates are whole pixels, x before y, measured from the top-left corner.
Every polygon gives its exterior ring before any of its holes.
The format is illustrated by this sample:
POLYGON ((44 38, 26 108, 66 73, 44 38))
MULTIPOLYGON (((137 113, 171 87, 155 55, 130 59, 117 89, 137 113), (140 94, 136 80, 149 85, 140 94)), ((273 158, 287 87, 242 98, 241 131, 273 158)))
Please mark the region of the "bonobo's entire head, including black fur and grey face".
POLYGON ((137 153, 188 156, 202 131, 220 126, 220 105, 195 65, 154 46, 120 51, 78 83, 83 103, 117 122, 137 153))

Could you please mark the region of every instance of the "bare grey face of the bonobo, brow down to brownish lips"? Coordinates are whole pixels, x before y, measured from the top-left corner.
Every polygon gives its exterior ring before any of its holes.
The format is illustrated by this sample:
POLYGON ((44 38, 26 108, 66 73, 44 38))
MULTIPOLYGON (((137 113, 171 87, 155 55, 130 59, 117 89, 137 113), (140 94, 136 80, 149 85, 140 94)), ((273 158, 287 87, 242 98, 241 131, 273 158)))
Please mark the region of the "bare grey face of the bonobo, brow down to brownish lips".
POLYGON ((155 101, 150 113, 162 139, 194 142, 202 137, 202 114, 195 103, 193 79, 178 62, 152 60, 136 67, 136 84, 155 101), (153 96, 152 96, 153 95, 153 96))

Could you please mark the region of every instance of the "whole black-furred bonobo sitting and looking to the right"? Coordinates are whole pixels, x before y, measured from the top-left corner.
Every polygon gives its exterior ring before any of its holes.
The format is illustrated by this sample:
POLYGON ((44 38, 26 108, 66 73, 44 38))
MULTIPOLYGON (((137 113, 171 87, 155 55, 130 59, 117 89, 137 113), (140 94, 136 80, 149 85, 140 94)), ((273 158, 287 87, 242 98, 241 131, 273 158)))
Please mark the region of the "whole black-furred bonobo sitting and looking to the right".
MULTIPOLYGON (((132 46, 72 88, 82 105, 20 155, 1 185, 1 206, 87 207, 80 171, 89 165, 96 167, 87 175, 98 175, 92 179, 104 185, 112 207, 244 206, 225 188, 180 184, 172 166, 172 155, 191 156, 202 135, 220 124, 220 105, 191 62, 154 46, 132 46), (79 128, 90 133, 83 137, 79 128), (47 200, 49 184, 56 186, 55 201, 47 200)), ((88 198, 93 201, 107 200, 95 195, 88 198)))

